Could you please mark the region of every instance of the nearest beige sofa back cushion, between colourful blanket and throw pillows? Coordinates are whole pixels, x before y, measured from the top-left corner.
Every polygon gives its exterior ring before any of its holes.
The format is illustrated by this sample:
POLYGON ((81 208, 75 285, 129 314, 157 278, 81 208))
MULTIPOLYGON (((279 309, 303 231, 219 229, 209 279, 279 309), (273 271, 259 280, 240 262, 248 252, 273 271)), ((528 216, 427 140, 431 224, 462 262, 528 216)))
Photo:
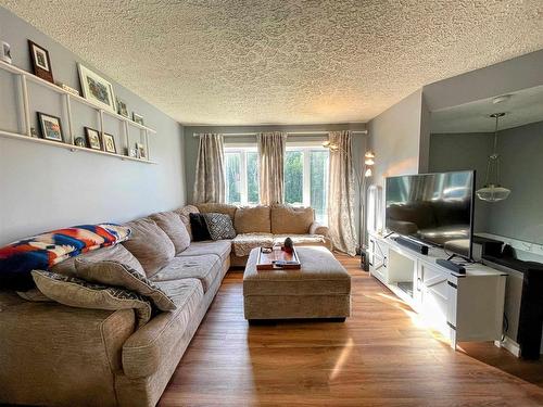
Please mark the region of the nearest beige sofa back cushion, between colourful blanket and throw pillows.
POLYGON ((146 272, 143 271, 143 267, 141 267, 141 264, 138 262, 138 259, 134 257, 134 254, 128 252, 128 250, 122 244, 115 244, 114 246, 103 247, 93 252, 80 254, 76 257, 71 257, 67 260, 59 263, 56 266, 52 267, 51 271, 59 275, 77 277, 77 272, 75 269, 76 259, 85 259, 89 262, 118 262, 143 276, 146 275, 146 272))

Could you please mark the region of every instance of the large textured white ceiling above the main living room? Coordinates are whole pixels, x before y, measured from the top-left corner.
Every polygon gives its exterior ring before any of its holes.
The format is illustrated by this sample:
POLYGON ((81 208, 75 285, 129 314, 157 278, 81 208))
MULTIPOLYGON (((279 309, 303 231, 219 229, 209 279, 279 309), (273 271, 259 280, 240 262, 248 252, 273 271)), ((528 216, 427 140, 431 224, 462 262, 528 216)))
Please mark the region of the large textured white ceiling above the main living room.
POLYGON ((543 48, 541 0, 0 0, 184 124, 366 122, 543 48))

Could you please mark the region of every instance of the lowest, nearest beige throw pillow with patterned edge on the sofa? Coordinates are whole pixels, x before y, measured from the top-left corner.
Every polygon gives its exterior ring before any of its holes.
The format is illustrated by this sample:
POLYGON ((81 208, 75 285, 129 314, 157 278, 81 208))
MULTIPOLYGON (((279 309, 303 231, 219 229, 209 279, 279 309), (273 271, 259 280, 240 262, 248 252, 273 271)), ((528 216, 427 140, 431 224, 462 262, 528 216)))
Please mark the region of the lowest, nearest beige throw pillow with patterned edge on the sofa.
POLYGON ((31 276, 39 291, 60 304, 91 309, 134 309, 138 328, 151 319, 151 303, 135 292, 51 271, 33 270, 31 276))

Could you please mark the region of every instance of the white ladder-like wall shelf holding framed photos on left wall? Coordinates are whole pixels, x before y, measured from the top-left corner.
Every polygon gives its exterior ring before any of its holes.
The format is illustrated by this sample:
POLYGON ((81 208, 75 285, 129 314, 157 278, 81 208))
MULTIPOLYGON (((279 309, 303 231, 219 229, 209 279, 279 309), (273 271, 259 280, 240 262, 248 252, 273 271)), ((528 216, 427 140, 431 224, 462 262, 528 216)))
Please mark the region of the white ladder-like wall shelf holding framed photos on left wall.
POLYGON ((56 147, 56 148, 61 148, 61 149, 66 149, 66 150, 70 150, 72 152, 84 151, 84 152, 88 152, 88 153, 113 156, 113 157, 117 157, 117 158, 126 160, 126 161, 135 161, 135 162, 139 162, 139 163, 144 163, 144 164, 156 164, 156 162, 149 160, 149 156, 150 156, 149 135, 156 133, 156 131, 153 130, 152 128, 140 125, 140 124, 129 119, 128 117, 122 116, 117 113, 104 110, 104 109, 98 106, 97 104, 92 103, 91 101, 89 101, 85 98, 81 98, 80 96, 73 94, 73 93, 62 89, 61 87, 59 87, 54 84, 51 84, 47 80, 43 80, 43 79, 22 69, 20 67, 16 67, 14 65, 11 65, 11 64, 8 64, 5 62, 0 61, 0 69, 3 69, 3 71, 7 71, 11 74, 17 75, 20 78, 21 100, 23 102, 23 114, 24 114, 24 124, 25 124, 25 126, 24 126, 25 133, 5 131, 5 130, 0 129, 0 137, 52 145, 52 147, 56 147), (29 96, 28 96, 27 81, 31 81, 34 84, 41 86, 41 87, 48 88, 48 89, 50 89, 59 94, 64 96, 65 102, 66 102, 67 126, 65 128, 67 128, 67 135, 65 133, 63 136, 65 139, 67 139, 67 142, 52 141, 52 140, 41 139, 41 138, 36 138, 36 137, 30 136, 30 127, 31 126, 30 126, 29 96), (131 156, 118 154, 118 153, 110 153, 110 152, 105 151, 105 145, 104 145, 105 143, 103 143, 103 142, 102 142, 102 150, 93 150, 93 149, 90 149, 87 147, 75 145, 74 144, 75 135, 74 135, 73 127, 72 127, 72 124, 73 124, 72 109, 71 109, 72 101, 85 104, 91 109, 94 109, 98 112, 98 114, 100 115, 100 133, 101 135, 104 133, 103 115, 114 117, 117 120, 119 120, 121 123, 124 123, 124 125, 125 125, 124 140, 125 140, 125 147, 127 149, 129 149, 129 147, 128 147, 128 126, 135 127, 135 128, 139 129, 140 131, 143 131, 143 138, 144 138, 143 143, 146 145, 148 158, 138 158, 138 157, 131 157, 131 156))

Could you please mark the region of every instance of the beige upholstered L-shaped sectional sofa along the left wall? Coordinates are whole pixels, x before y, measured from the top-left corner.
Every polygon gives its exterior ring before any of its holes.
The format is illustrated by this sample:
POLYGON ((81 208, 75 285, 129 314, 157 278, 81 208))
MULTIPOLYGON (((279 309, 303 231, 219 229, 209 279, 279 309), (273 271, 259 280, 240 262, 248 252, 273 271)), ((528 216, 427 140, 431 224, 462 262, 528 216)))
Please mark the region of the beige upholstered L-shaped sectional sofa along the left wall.
MULTIPOLYGON (((132 230, 129 241, 78 256, 89 262, 139 263, 147 277, 174 300, 175 310, 156 313, 139 329, 134 309, 76 308, 0 291, 0 404, 154 406, 230 259, 241 265, 247 258, 243 245, 300 232, 295 240, 303 244, 329 246, 326 229, 310 219, 313 212, 308 209, 211 204, 200 208, 231 214, 237 238, 190 242, 177 233, 184 224, 190 229, 188 214, 198 211, 187 206, 131 221, 127 224, 132 230), (303 231, 315 233, 304 242, 303 231), (320 238, 317 232, 323 232, 320 238), (231 254, 238 245, 239 255, 231 254)), ((53 271, 74 275, 74 262, 67 259, 53 271)))

